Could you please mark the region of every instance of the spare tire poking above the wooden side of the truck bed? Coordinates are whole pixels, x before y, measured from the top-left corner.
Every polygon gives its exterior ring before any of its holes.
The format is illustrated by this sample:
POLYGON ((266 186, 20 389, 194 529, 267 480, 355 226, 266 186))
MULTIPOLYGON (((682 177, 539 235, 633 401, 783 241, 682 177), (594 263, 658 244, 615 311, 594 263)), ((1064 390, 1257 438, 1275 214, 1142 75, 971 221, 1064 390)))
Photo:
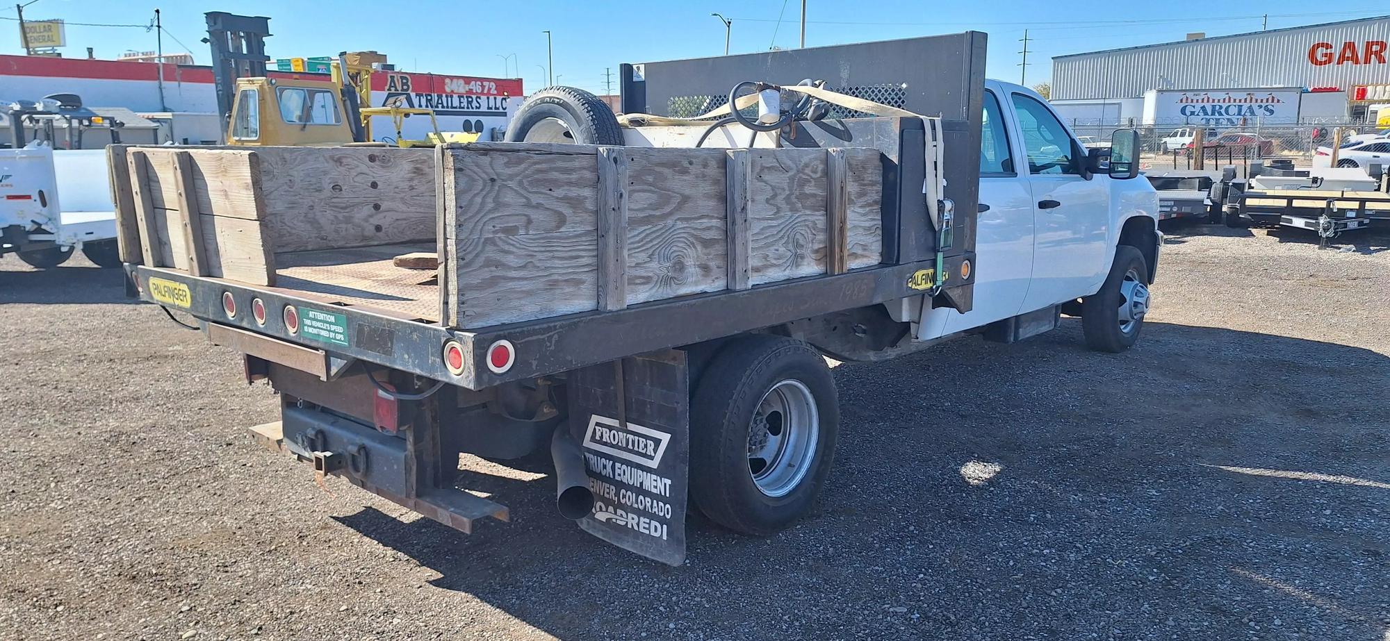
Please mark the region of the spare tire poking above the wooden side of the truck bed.
POLYGON ((507 126, 509 143, 623 144, 617 117, 598 96, 553 86, 531 94, 507 126))

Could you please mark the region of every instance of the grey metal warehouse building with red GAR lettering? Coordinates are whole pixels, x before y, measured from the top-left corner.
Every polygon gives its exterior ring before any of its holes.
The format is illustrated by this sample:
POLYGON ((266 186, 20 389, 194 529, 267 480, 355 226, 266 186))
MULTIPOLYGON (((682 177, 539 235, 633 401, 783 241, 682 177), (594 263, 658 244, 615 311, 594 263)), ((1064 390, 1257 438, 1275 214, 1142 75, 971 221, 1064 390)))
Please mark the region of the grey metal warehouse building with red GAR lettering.
POLYGON ((1293 87, 1305 94, 1341 92, 1336 104, 1343 118, 1364 118, 1366 104, 1390 101, 1387 40, 1390 15, 1058 55, 1052 58, 1052 100, 1293 87))

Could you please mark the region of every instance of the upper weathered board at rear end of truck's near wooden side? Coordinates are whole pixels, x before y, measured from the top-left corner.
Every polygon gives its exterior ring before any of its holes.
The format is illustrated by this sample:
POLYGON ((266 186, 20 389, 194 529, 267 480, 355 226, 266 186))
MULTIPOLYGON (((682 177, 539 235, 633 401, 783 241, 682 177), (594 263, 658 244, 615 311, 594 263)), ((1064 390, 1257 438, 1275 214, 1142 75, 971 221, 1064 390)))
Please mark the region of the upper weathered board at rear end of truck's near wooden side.
MULTIPOLYGON (((575 146, 578 147, 578 146, 575 146)), ((591 148, 592 147, 585 147, 591 148)), ((594 154, 453 150, 457 200, 452 237, 594 230, 594 154)))

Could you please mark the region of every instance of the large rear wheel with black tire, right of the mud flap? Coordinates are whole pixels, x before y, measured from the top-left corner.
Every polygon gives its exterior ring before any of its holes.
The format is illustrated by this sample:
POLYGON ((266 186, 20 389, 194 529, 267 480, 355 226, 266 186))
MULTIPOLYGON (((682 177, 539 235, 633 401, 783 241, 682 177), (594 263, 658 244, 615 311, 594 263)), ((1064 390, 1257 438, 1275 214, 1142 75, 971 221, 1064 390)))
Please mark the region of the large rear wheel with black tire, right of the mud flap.
POLYGON ((691 427, 699 511, 744 534, 783 530, 812 509, 834 459, 840 405, 830 368, 798 340, 728 341, 695 388, 691 427))

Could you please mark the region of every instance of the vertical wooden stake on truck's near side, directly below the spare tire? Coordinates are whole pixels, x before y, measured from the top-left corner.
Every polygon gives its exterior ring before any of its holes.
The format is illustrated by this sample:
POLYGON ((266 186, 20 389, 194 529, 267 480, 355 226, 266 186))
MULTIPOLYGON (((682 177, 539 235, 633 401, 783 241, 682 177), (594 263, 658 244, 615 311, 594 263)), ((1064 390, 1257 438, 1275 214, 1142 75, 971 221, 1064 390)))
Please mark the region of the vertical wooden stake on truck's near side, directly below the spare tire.
POLYGON ((628 158, 623 147, 598 153, 598 307, 627 307, 628 158))

